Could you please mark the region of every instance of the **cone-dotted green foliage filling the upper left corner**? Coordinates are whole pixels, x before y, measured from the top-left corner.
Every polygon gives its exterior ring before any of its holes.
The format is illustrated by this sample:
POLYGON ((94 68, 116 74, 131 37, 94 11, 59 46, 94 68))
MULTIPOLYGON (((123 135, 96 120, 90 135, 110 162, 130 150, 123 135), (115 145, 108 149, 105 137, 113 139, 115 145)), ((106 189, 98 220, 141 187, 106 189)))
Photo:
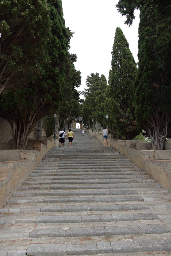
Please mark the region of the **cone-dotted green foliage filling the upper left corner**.
POLYGON ((0 93, 44 74, 51 35, 46 0, 1 0, 0 34, 0 93))

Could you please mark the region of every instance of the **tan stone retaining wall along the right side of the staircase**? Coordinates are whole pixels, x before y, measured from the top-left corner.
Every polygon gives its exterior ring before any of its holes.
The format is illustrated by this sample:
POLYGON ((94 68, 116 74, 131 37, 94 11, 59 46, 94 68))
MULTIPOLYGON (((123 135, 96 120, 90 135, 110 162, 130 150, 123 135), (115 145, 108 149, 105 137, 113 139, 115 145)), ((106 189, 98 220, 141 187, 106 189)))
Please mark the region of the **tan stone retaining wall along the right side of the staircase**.
MULTIPOLYGON (((91 130, 88 132, 104 145, 102 132, 92 133, 91 130)), ((170 142, 171 140, 167 140, 166 145, 171 145, 170 142)), ((151 143, 144 141, 108 139, 108 145, 122 153, 171 192, 171 150, 150 150, 151 143)))

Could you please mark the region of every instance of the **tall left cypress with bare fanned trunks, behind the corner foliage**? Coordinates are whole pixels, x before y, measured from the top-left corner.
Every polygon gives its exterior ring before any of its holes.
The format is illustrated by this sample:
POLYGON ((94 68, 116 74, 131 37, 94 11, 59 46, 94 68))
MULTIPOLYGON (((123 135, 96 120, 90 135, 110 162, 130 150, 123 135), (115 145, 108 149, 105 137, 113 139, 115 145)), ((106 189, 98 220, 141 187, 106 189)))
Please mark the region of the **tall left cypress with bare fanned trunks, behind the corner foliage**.
POLYGON ((43 76, 24 83, 15 93, 0 97, 1 116, 12 127, 15 124, 14 148, 25 149, 30 132, 44 116, 57 112, 62 99, 65 63, 68 58, 68 30, 61 0, 49 1, 52 31, 46 47, 48 62, 43 76))

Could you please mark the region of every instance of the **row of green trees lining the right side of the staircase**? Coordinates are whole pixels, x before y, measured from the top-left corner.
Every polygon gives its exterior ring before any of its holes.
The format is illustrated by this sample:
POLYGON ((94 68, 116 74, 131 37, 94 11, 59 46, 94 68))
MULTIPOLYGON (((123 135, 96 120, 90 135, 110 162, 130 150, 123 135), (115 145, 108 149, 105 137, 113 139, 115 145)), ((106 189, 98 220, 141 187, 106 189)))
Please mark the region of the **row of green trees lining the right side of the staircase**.
POLYGON ((87 77, 83 122, 93 118, 104 126, 108 113, 112 138, 132 140, 143 130, 152 149, 162 150, 171 137, 170 1, 120 0, 117 8, 128 25, 140 9, 138 68, 122 30, 116 28, 108 83, 104 75, 87 77))

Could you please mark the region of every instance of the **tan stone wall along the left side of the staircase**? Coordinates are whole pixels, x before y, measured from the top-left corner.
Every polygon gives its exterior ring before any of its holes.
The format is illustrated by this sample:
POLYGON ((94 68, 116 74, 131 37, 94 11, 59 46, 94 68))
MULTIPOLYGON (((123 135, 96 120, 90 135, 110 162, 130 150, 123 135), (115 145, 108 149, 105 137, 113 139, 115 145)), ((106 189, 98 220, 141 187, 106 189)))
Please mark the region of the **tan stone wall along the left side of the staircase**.
POLYGON ((12 193, 35 169, 43 156, 53 146, 57 139, 47 140, 47 144, 39 143, 39 151, 35 150, 0 150, 0 208, 12 193))

